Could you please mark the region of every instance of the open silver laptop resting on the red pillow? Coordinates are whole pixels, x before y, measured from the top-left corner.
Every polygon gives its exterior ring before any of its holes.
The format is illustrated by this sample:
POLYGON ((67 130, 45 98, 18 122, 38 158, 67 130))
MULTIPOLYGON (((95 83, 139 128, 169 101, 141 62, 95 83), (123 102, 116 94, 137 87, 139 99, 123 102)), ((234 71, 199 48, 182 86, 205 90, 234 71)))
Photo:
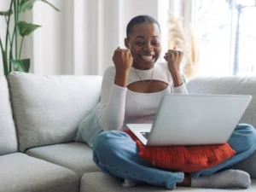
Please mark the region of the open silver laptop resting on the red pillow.
POLYGON ((227 143, 252 96, 163 96, 153 124, 127 124, 146 146, 227 143))

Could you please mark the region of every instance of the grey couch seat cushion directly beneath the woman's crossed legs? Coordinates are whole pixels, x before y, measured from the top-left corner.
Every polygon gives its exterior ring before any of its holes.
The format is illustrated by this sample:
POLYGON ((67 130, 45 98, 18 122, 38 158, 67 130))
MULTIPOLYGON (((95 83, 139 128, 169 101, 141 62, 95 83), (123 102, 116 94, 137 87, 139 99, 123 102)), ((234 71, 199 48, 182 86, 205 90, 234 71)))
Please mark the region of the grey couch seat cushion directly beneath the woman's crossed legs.
MULTIPOLYGON (((80 192, 166 192, 170 191, 165 188, 154 187, 150 185, 136 186, 132 188, 121 187, 121 180, 104 175, 102 172, 85 173, 81 179, 80 192)), ((201 192, 228 192, 230 189, 197 189, 177 187, 175 191, 201 191, 201 192)), ((249 189, 243 189, 243 192, 256 191, 256 180, 253 180, 249 189)))

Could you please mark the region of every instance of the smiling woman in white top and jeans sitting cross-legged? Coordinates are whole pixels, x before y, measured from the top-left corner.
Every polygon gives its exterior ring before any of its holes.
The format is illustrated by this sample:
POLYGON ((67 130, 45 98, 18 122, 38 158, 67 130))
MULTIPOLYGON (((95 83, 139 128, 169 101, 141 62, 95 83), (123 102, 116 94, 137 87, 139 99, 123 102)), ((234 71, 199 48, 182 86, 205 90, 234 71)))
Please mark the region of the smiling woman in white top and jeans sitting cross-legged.
POLYGON ((96 165, 104 173, 124 178, 125 187, 144 182, 167 189, 174 189, 176 184, 199 188, 248 188, 251 181, 247 172, 226 168, 253 154, 256 131, 251 125, 237 125, 230 137, 229 144, 236 150, 235 156, 201 172, 167 172, 139 157, 137 144, 123 132, 127 128, 125 125, 152 123, 162 96, 187 94, 180 73, 183 52, 168 50, 167 62, 155 64, 161 52, 160 25, 148 15, 133 18, 126 35, 127 49, 114 51, 114 67, 108 67, 102 80, 99 121, 104 132, 94 142, 96 165))

